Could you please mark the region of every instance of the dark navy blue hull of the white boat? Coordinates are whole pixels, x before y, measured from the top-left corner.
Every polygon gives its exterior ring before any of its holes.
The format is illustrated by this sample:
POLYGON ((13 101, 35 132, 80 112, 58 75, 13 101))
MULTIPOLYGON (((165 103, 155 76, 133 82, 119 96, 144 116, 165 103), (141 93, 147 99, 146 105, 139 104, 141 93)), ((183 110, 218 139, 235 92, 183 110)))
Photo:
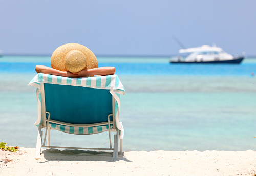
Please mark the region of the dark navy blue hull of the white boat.
POLYGON ((202 61, 202 62, 186 62, 186 61, 170 61, 170 63, 186 63, 186 64, 191 64, 191 63, 196 63, 196 64, 240 64, 244 57, 238 57, 232 60, 217 60, 217 61, 202 61))

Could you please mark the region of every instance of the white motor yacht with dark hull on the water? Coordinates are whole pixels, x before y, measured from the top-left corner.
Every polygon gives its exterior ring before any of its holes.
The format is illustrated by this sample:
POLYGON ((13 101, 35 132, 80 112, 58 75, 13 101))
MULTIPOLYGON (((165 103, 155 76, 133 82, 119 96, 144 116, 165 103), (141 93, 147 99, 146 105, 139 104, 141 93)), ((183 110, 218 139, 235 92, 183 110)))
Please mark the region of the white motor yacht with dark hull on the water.
POLYGON ((226 53, 220 47, 203 45, 201 47, 187 48, 179 50, 179 53, 188 53, 188 56, 183 58, 170 59, 170 63, 233 63, 239 64, 244 57, 234 57, 226 53))

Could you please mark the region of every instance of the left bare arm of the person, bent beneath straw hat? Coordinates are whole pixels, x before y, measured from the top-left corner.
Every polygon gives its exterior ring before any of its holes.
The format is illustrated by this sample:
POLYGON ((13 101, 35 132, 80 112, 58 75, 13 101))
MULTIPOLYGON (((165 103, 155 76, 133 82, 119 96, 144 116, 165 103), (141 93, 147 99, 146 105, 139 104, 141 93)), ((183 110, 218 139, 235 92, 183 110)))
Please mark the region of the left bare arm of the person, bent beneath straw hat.
POLYGON ((77 74, 72 74, 70 72, 63 72, 59 71, 50 67, 46 67, 44 65, 36 65, 35 71, 37 73, 45 73, 50 75, 57 75, 57 76, 65 76, 65 77, 71 77, 71 78, 77 78, 79 77, 77 74))

